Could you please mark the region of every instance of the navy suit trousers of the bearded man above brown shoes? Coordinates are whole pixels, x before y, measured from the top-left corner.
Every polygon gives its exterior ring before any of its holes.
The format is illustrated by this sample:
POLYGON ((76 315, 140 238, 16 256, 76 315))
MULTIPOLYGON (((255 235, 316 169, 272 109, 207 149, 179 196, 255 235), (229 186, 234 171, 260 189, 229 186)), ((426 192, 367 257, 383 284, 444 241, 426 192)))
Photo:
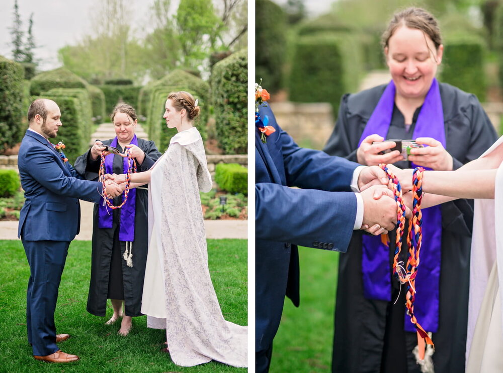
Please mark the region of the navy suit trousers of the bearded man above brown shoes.
POLYGON ((34 355, 46 356, 59 350, 54 311, 70 242, 24 239, 22 242, 30 265, 26 295, 28 342, 32 344, 34 355))

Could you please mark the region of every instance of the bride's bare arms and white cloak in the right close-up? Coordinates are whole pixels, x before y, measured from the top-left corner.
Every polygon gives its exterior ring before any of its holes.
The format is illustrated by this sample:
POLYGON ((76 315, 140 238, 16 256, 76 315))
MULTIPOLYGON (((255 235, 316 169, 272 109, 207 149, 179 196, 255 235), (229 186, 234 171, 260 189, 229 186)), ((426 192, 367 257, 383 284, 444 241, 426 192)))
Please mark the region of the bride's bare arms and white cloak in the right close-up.
MULTIPOLYGON (((402 185, 407 180, 410 185, 410 169, 392 169, 402 185)), ((503 136, 480 158, 456 171, 425 171, 423 192, 422 208, 475 198, 466 373, 502 372, 503 235, 496 229, 503 229, 503 136)))

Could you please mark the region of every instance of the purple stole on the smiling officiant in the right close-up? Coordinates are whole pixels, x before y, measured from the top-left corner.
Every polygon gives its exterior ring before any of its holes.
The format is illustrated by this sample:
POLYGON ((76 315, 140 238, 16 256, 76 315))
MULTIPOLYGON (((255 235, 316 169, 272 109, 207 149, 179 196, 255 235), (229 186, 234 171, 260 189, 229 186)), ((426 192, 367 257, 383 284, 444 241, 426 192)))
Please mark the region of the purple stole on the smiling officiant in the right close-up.
MULTIPOLYGON (((365 126, 360 144, 368 135, 377 133, 386 138, 393 115, 395 85, 391 81, 365 126)), ((439 84, 433 79, 423 107, 417 117, 412 138, 433 137, 445 147, 444 112, 439 84)), ((412 163, 412 168, 417 167, 412 163)), ((440 259, 442 246, 442 214, 440 206, 423 212, 423 245, 421 263, 417 270, 414 314, 426 331, 436 332, 439 314, 440 259)), ((407 250, 404 232, 402 252, 407 250)), ((390 248, 381 243, 380 237, 363 235, 362 274, 363 289, 367 299, 391 301, 390 248)), ((394 243, 390 244, 394 246, 394 243)), ((394 248, 392 249, 394 252, 394 248)), ((405 266, 405 263, 404 263, 405 266)), ((406 286, 406 284, 405 284, 406 286)), ((404 291, 402 289, 402 291, 404 291)), ((414 325, 405 318, 405 330, 415 332, 414 325)))

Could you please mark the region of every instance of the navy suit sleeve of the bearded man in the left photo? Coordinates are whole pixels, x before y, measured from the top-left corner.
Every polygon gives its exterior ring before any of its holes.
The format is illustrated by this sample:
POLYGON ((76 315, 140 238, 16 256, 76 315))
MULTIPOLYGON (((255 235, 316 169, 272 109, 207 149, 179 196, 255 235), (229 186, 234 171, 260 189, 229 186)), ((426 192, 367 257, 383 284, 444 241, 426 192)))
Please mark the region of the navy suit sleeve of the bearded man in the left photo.
POLYGON ((30 175, 51 192, 90 202, 100 202, 101 183, 67 177, 49 152, 28 152, 26 164, 31 165, 30 175))

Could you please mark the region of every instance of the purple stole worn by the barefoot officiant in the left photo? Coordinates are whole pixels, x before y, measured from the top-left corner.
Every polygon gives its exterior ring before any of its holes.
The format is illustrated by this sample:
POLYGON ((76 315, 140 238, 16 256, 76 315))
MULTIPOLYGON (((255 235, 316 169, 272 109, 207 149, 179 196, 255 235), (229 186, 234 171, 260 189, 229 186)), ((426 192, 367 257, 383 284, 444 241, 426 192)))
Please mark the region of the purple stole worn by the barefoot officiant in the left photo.
MULTIPOLYGON (((136 135, 133 136, 131 144, 138 146, 138 139, 136 135)), ((117 136, 113 139, 110 146, 117 147, 117 136)), ((114 168, 114 154, 109 154, 105 157, 105 172, 107 174, 113 174, 114 168)), ((117 156, 120 157, 120 156, 117 156)), ((122 172, 127 173, 129 168, 127 158, 123 159, 122 172)), ((131 160, 133 162, 133 160, 131 160)), ((122 198, 124 199, 124 192, 122 193, 122 198)), ((113 211, 113 210, 112 210, 113 211)), ((120 225, 119 225, 119 241, 134 241, 134 215, 136 211, 136 189, 129 189, 129 194, 127 197, 127 202, 120 209, 120 225)), ((98 206, 98 228, 112 228, 113 214, 110 213, 107 206, 105 205, 102 197, 102 201, 98 206)))

